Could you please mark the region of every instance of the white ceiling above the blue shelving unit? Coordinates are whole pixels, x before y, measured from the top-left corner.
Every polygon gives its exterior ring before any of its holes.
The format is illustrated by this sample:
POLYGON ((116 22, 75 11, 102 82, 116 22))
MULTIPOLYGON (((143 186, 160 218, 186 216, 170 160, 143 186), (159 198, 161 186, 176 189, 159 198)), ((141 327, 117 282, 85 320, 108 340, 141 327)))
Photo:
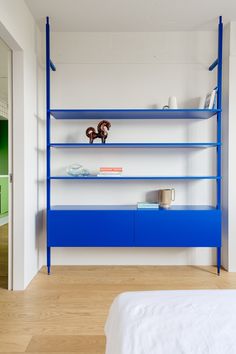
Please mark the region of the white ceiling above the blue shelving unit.
POLYGON ((43 30, 156 32, 212 30, 219 15, 236 20, 236 0, 25 0, 43 30))

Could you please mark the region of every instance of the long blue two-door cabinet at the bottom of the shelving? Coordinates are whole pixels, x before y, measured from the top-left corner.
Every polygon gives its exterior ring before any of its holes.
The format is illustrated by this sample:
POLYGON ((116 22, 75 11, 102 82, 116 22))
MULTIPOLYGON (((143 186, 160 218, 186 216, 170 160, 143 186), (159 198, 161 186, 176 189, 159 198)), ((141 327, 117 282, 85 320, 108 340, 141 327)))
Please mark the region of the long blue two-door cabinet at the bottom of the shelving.
POLYGON ((49 247, 220 247, 221 211, 48 211, 49 247))

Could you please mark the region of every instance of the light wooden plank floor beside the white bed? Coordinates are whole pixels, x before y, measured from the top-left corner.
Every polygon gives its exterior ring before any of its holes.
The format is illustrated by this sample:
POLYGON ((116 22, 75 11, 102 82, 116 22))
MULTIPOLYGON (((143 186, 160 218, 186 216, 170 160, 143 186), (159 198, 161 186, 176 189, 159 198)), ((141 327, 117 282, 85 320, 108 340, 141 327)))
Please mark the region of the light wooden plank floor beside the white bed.
POLYGON ((24 292, 0 290, 0 353, 103 354, 104 324, 121 292, 236 288, 213 267, 53 267, 24 292))

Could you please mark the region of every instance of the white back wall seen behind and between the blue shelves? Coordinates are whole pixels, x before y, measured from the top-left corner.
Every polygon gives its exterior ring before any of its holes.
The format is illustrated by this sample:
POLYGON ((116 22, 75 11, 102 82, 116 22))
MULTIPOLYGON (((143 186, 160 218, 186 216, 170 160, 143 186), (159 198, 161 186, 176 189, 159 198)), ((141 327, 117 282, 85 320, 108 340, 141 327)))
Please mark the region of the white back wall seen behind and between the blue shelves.
MULTIPOLYGON (((53 33, 54 108, 162 107, 168 96, 179 107, 198 107, 216 84, 208 66, 217 56, 215 32, 53 33)), ((215 141, 215 120, 111 121, 110 142, 215 141)), ((52 140, 85 142, 97 121, 53 121, 52 140)), ((214 149, 52 151, 52 173, 82 163, 91 171, 122 165, 127 174, 215 174, 214 149), (148 156, 148 158, 147 158, 148 156), (212 158, 212 159, 211 159, 212 158)), ((176 188, 176 204, 214 204, 215 182, 55 181, 52 204, 135 204, 162 187, 176 188), (99 186, 99 187, 98 187, 99 186)), ((73 230, 68 230, 73 232, 73 230)), ((96 232, 96 231, 95 231, 96 232)), ((53 249, 52 264, 213 264, 209 249, 53 249)), ((45 248, 40 264, 45 264, 45 248)))

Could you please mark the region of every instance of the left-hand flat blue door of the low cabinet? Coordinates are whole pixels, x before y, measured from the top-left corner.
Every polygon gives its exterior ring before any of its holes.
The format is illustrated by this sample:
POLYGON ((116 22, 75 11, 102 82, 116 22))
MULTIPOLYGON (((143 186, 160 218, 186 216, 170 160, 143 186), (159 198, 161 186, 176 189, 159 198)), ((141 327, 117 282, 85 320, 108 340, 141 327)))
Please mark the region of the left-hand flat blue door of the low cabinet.
POLYGON ((134 211, 50 210, 49 247, 121 247, 134 244, 134 211))

